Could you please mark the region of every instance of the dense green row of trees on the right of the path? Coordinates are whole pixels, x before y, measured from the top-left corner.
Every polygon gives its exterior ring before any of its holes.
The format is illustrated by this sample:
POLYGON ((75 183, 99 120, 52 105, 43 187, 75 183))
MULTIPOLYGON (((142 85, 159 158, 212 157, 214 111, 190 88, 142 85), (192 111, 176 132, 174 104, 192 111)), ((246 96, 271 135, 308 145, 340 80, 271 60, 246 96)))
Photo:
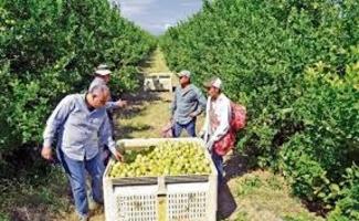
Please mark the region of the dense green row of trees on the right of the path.
MULTIPOLYGON (((161 38, 171 70, 217 75, 244 104, 237 149, 294 193, 358 219, 359 2, 217 0, 161 38)), ((340 217, 340 218, 339 218, 340 217)))

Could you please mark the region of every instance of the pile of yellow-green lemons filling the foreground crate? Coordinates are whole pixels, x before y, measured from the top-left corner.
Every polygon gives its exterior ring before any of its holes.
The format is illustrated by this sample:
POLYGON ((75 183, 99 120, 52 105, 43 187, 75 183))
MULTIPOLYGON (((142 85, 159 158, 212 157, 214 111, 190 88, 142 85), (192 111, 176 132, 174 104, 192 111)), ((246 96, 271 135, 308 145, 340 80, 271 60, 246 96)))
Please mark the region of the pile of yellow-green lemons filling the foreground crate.
POLYGON ((168 141, 141 151, 125 151, 125 161, 117 161, 110 177, 158 177, 209 175, 210 162, 204 149, 196 143, 168 141))

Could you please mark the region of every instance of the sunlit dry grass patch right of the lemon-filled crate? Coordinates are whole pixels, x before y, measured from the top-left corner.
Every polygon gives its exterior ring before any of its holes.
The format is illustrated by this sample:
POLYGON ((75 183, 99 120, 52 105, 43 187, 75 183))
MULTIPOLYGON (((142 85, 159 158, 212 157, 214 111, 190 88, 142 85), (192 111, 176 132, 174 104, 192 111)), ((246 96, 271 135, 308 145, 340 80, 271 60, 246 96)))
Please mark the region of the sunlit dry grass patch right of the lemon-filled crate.
POLYGON ((270 171, 253 171, 229 181, 237 203, 230 220, 321 221, 291 194, 284 178, 270 171))

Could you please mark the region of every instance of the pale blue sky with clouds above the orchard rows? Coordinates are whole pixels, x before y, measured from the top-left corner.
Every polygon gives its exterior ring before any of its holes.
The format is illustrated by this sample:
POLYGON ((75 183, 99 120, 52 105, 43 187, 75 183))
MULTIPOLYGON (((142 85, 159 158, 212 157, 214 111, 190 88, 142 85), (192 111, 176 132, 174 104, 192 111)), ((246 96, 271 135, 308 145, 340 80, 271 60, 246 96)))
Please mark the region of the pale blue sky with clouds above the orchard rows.
POLYGON ((169 27, 198 12, 202 0, 112 0, 120 6, 123 17, 151 34, 162 34, 169 27))

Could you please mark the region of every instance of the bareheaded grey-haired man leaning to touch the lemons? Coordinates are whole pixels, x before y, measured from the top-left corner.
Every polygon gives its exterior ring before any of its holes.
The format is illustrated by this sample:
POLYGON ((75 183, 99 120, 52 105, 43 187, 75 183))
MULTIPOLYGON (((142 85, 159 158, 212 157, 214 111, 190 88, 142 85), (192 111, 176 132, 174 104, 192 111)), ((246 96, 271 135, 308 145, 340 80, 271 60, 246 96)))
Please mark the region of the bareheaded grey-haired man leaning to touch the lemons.
POLYGON ((96 85, 86 94, 64 97, 47 119, 43 134, 42 157, 52 159, 53 141, 57 143, 57 157, 70 180, 80 220, 88 219, 86 170, 92 177, 93 200, 103 203, 99 144, 106 144, 117 160, 123 156, 116 150, 105 105, 109 90, 96 85))

